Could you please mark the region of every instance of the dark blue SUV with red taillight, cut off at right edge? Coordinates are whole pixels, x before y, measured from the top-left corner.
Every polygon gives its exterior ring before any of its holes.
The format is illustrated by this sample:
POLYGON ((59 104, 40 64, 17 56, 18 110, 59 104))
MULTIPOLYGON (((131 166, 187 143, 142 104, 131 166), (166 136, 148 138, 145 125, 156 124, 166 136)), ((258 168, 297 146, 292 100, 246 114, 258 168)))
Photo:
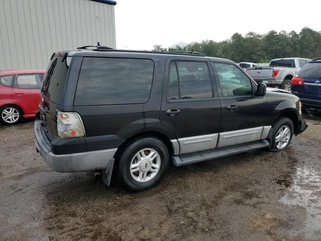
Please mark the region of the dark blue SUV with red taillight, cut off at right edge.
POLYGON ((300 97, 303 108, 321 110, 321 58, 304 65, 291 83, 292 93, 300 97))

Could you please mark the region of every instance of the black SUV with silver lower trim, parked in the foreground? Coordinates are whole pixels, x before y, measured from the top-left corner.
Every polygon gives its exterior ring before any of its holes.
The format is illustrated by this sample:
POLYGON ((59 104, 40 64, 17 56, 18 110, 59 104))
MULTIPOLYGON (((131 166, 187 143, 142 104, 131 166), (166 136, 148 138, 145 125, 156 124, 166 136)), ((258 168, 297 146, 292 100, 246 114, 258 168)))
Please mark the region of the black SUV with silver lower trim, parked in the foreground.
POLYGON ((107 185, 115 173, 135 191, 156 185, 170 163, 283 150, 307 128, 297 96, 197 52, 58 52, 42 85, 35 135, 48 165, 102 171, 107 185))

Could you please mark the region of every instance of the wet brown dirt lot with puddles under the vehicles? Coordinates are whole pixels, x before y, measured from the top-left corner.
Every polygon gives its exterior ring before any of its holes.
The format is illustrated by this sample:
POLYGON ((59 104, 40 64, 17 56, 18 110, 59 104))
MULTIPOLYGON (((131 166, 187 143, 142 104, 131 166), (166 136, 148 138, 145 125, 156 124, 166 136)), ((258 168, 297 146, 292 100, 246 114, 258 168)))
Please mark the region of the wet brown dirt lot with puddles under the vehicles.
POLYGON ((289 149, 170 167, 130 193, 56 173, 33 121, 0 126, 0 240, 321 240, 321 116, 289 149))

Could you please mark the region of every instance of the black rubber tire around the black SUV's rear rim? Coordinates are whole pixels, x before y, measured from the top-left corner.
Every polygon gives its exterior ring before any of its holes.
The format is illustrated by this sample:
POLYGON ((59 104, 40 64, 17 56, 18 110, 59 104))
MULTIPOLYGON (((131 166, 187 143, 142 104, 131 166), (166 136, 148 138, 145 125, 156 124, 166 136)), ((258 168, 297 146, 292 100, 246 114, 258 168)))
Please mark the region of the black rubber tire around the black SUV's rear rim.
MULTIPOLYGON (((118 172, 117 177, 120 184, 131 191, 141 191, 157 185, 162 180, 169 166, 170 154, 166 145, 162 141, 154 137, 144 137, 131 142, 124 150, 122 150, 122 153, 120 153, 119 158, 116 161, 118 172), (139 151, 148 148, 155 150, 159 154, 161 165, 158 172, 151 180, 138 182, 131 175, 130 165, 132 163, 132 159, 139 151)), ((149 175, 151 175, 151 173, 149 175)))

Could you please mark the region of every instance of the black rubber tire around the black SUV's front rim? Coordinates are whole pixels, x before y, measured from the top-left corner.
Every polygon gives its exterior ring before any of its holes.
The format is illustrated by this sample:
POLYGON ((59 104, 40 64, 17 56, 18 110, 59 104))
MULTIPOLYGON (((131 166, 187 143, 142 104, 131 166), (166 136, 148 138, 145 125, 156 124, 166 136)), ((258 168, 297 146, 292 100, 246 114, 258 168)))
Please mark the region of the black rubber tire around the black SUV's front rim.
MULTIPOLYGON (((291 140, 292 140, 292 137, 293 137, 293 132, 294 132, 294 127, 293 127, 293 123, 291 121, 291 119, 287 118, 287 117, 282 117, 282 118, 279 118, 275 124, 273 125, 273 135, 272 135, 272 140, 271 140, 271 143, 270 143, 270 147, 268 148, 269 151, 272 151, 272 152, 278 152, 278 151, 282 151, 284 149, 286 149, 289 144, 291 143, 291 140), (289 127, 290 129, 290 137, 289 137, 289 141, 288 143, 286 144, 286 146, 282 147, 282 148, 278 148, 277 145, 276 145, 276 136, 277 136, 277 133, 279 132, 280 128, 282 127, 289 127)), ((277 142, 279 144, 279 142, 277 142)))

